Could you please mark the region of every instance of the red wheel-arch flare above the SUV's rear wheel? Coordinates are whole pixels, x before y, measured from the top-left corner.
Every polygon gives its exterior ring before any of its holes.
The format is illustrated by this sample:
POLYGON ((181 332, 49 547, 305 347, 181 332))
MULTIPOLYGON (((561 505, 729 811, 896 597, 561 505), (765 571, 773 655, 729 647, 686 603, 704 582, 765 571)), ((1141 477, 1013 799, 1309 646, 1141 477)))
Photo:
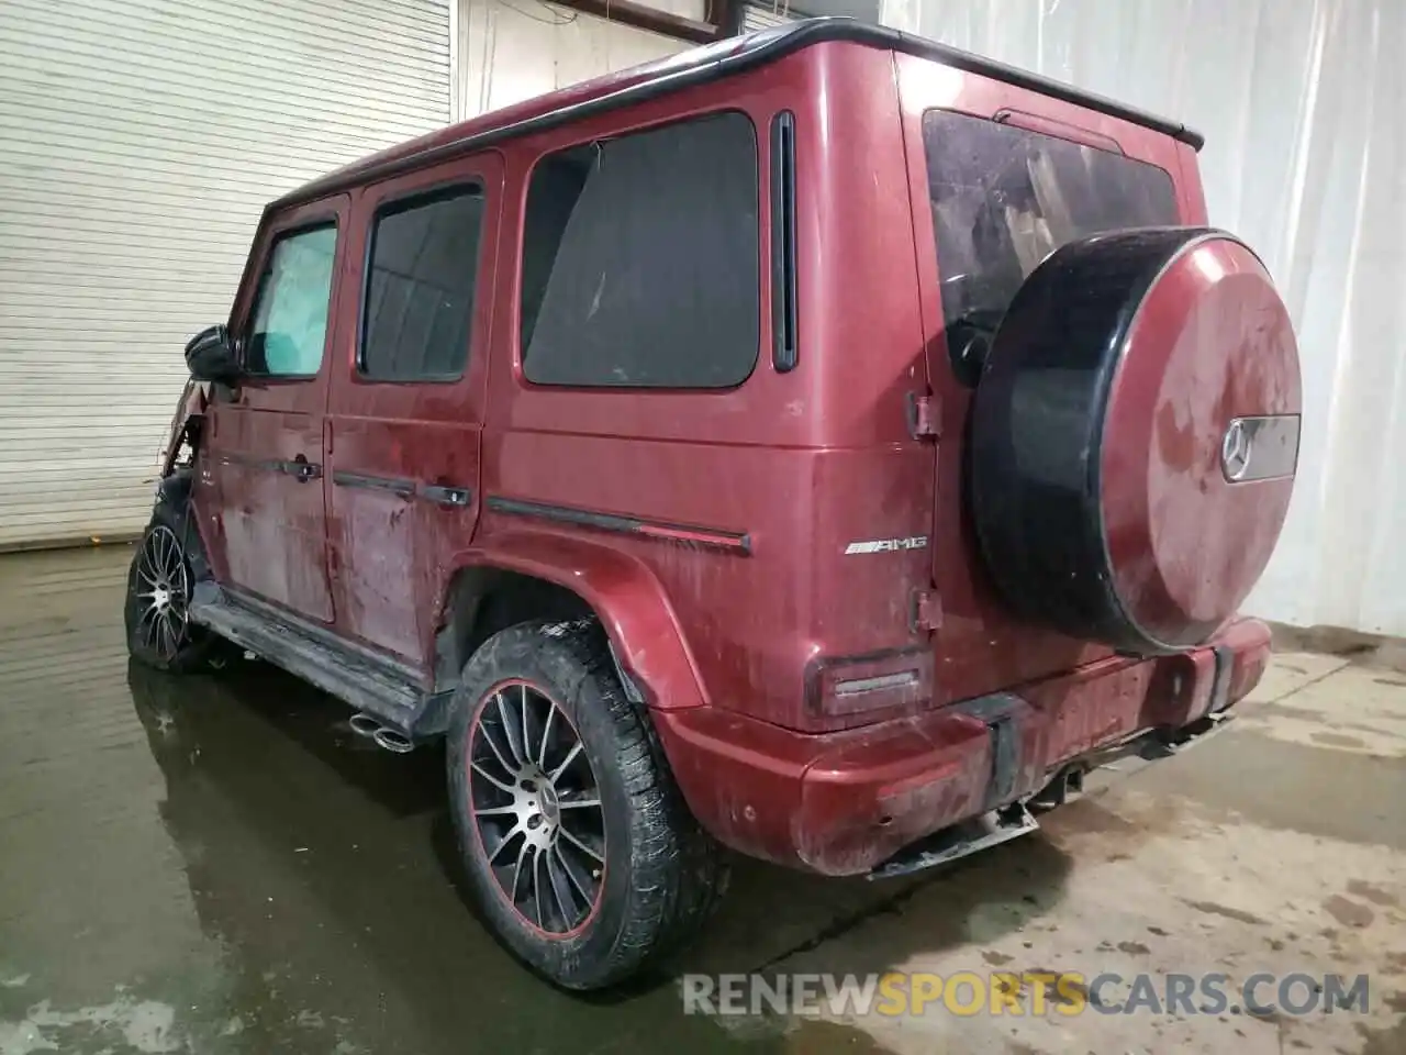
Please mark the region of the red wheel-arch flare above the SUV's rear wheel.
POLYGON ((644 561, 583 539, 519 529, 457 554, 453 573, 488 567, 555 582, 595 610, 617 661, 651 708, 706 705, 707 695, 678 616, 644 561))

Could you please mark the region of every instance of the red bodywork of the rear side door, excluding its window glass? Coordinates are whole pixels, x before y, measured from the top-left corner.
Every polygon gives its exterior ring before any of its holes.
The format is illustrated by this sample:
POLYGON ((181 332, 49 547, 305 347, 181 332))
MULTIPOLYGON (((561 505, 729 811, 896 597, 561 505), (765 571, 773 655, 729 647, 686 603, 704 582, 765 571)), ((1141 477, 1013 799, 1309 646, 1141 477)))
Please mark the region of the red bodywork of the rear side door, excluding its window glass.
POLYGON ((470 546, 482 508, 484 387, 501 203, 502 159, 485 153, 367 187, 353 207, 326 437, 337 630, 412 664, 426 684, 436 609, 453 575, 453 554, 470 546), (368 378, 359 359, 378 211, 470 186, 481 188, 484 207, 463 374, 368 378))

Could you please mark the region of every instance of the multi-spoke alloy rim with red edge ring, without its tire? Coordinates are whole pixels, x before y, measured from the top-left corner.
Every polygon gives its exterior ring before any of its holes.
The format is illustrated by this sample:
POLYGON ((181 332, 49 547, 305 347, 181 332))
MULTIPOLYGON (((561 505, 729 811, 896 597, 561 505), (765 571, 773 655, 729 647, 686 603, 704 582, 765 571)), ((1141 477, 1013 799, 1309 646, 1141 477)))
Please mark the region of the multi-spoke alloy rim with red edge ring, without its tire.
POLYGON ((571 719, 543 689, 503 682, 481 702, 470 741, 474 826, 498 888, 546 934, 578 930, 600 902, 600 789, 571 719))

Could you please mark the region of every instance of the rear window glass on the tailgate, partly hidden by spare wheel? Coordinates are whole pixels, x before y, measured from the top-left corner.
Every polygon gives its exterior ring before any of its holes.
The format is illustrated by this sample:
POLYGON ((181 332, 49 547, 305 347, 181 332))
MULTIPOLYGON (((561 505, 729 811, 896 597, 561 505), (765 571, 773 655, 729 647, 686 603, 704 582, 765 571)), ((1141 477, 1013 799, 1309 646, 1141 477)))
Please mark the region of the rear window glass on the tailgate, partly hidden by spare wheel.
POLYGON ((922 117, 942 312, 953 367, 973 333, 990 335, 1025 277, 1052 252, 1102 231, 1177 224, 1171 177, 1154 165, 929 110, 922 117))

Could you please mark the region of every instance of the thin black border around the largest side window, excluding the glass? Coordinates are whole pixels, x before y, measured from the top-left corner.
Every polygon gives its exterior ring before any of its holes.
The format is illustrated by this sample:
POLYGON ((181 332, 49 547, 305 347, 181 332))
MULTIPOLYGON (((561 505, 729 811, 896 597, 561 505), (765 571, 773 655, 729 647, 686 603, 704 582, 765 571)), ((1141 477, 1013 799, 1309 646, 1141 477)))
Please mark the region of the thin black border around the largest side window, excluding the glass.
POLYGON ((728 395, 735 392, 738 388, 745 385, 752 376, 756 374, 756 369, 762 363, 762 335, 763 324, 768 318, 768 305, 762 297, 761 276, 770 267, 770 262, 766 257, 763 239, 762 239, 762 148, 761 136, 756 128, 756 121, 749 111, 737 106, 735 103, 728 103, 710 110, 697 110, 688 114, 671 114, 662 120, 645 121, 643 124, 631 124, 624 128, 606 132, 605 135, 589 135, 579 139, 572 139, 568 142, 560 142, 548 146, 547 149, 537 153, 533 158, 531 165, 527 167, 527 174, 522 183, 522 208, 519 211, 517 222, 517 250, 516 259, 513 262, 513 312, 512 312, 512 349, 513 349, 513 377, 517 385, 527 390, 537 390, 543 392, 628 392, 634 395, 728 395), (740 114, 747 118, 747 127, 752 132, 752 163, 756 170, 756 354, 752 357, 752 366, 747 371, 747 376, 740 378, 735 384, 730 385, 710 385, 710 387, 689 387, 689 385, 638 385, 638 384, 548 384, 543 381, 533 381, 527 377, 526 370, 526 356, 523 349, 523 260, 526 257, 526 242, 527 242, 527 196, 531 191, 531 179, 537 172, 537 166, 547 158, 558 153, 567 153, 568 151, 575 151, 581 146, 589 146, 592 143, 607 143, 614 139, 624 139, 628 135, 637 135, 640 132, 652 132, 659 128, 672 128, 673 125, 689 124, 690 121, 702 121, 709 117, 718 117, 723 114, 740 114))

